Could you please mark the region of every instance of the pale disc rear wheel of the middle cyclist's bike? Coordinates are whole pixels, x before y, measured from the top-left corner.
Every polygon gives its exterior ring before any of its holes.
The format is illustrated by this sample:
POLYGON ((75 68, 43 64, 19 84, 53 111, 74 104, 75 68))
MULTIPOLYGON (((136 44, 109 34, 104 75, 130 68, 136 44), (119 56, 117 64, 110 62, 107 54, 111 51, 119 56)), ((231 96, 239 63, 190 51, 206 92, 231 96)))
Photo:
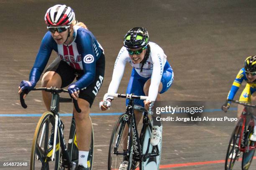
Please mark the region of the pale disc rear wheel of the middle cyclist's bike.
MULTIPOLYGON (((154 153, 156 152, 156 146, 150 145, 150 137, 151 137, 151 122, 148 120, 148 123, 146 125, 146 128, 144 129, 144 132, 142 132, 144 135, 141 138, 142 141, 142 155, 146 154, 147 148, 148 153, 154 153)), ((162 140, 157 145, 159 149, 159 156, 148 158, 145 162, 142 160, 140 163, 140 170, 159 170, 160 162, 161 162, 161 149, 162 149, 162 140)))

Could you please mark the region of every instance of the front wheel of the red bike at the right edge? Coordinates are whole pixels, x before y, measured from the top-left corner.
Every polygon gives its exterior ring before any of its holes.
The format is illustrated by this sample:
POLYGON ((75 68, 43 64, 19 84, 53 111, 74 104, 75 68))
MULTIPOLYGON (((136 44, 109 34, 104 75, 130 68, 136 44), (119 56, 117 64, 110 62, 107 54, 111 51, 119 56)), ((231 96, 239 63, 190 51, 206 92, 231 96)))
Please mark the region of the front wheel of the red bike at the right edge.
POLYGON ((225 170, 232 170, 236 160, 238 160, 238 157, 240 156, 238 142, 242 131, 242 125, 243 120, 240 119, 230 137, 225 160, 225 170))

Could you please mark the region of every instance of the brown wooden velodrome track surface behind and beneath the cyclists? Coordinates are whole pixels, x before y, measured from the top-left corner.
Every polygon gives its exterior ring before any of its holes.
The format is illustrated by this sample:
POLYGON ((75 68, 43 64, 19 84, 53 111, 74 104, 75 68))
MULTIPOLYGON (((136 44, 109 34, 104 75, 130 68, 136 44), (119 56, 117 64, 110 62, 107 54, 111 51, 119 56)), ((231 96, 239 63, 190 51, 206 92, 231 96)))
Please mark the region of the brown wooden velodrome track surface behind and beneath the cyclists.
MULTIPOLYGON (((168 56, 175 78, 171 89, 163 95, 165 100, 224 102, 243 60, 256 53, 256 2, 253 0, 1 0, 0 169, 29 169, 4 167, 3 163, 30 160, 39 117, 28 114, 40 114, 45 107, 41 93, 31 92, 26 98, 28 108, 23 109, 19 104, 18 85, 28 79, 41 38, 47 31, 45 12, 58 3, 73 7, 76 18, 88 26, 105 49, 105 78, 92 113, 102 113, 98 103, 107 92, 115 58, 130 28, 146 27, 150 40, 159 44, 168 56)), ((55 57, 53 52, 48 64, 55 57)), ((118 92, 125 92, 130 71, 127 65, 118 92)), ((38 86, 40 84, 38 82, 38 86)), ((124 103, 124 100, 114 100, 108 112, 123 112, 124 103)), ((61 113, 70 113, 71 107, 71 104, 62 104, 61 113)), ((107 169, 108 144, 117 118, 111 114, 92 116, 94 170, 107 169)), ((64 116, 62 120, 67 140, 71 117, 64 116)), ((161 169, 223 170, 232 130, 233 126, 165 124, 161 169)), ((236 163, 234 169, 240 167, 241 162, 236 163)), ((251 169, 256 169, 255 160, 251 169)))

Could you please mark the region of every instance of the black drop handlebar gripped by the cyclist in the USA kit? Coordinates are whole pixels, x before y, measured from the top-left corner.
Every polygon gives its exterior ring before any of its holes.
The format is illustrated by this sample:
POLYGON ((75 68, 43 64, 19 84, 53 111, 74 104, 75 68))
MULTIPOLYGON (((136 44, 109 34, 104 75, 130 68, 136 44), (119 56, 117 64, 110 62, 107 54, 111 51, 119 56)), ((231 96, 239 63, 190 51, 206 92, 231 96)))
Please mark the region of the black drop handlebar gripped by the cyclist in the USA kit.
MULTIPOLYGON (((61 93, 61 92, 69 92, 68 90, 65 89, 61 89, 61 88, 56 88, 56 87, 40 87, 40 88, 34 88, 32 90, 44 90, 46 92, 51 92, 51 93, 61 93)), ((24 90, 20 93, 20 104, 23 108, 27 108, 28 106, 25 103, 25 100, 23 99, 24 94, 28 94, 28 90, 24 90)), ((70 96, 71 97, 71 96, 70 96)), ((81 112, 81 109, 79 108, 79 105, 77 103, 77 100, 75 100, 73 97, 71 97, 73 99, 73 103, 74 103, 74 107, 77 110, 77 112, 81 112)))

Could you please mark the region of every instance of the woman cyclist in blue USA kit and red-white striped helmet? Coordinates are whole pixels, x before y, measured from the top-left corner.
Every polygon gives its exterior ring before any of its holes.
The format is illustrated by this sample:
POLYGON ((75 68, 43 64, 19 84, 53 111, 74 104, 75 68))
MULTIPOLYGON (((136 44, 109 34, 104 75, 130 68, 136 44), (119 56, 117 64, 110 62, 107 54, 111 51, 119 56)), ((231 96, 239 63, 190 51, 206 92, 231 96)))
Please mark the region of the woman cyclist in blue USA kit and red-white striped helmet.
MULTIPOLYGON (((69 94, 78 101, 82 112, 77 113, 75 109, 73 110, 79 149, 77 170, 87 170, 92 132, 89 113, 104 77, 104 51, 92 32, 87 30, 83 23, 77 23, 71 7, 66 5, 50 7, 46 12, 45 22, 49 31, 41 42, 29 81, 20 82, 19 94, 23 90, 28 92, 36 86, 52 50, 57 52, 58 57, 44 73, 42 87, 68 86, 69 94), (72 83, 75 77, 77 81, 72 83), (100 82, 100 85, 97 82, 100 82)), ((44 91, 42 93, 46 108, 50 110, 51 94, 44 91)))

